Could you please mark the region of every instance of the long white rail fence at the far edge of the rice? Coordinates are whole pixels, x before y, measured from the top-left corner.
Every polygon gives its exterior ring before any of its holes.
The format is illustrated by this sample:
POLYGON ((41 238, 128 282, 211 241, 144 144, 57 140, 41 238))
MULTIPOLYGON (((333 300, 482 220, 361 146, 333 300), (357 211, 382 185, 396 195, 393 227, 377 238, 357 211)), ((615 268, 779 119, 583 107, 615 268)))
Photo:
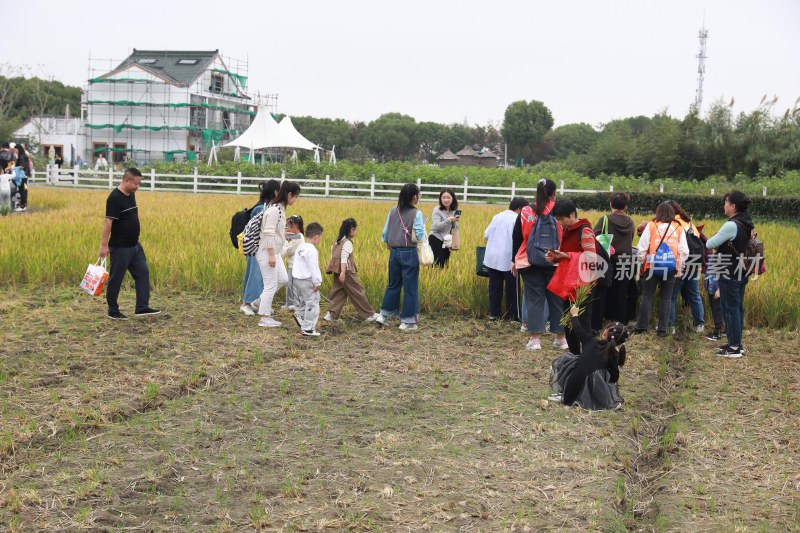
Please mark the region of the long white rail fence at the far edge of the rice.
MULTIPOLYGON (((48 167, 44 172, 34 172, 31 178, 33 183, 50 184, 59 187, 74 187, 80 189, 113 189, 122 179, 122 172, 111 169, 94 171, 89 169, 48 167)), ((199 173, 197 167, 193 174, 156 174, 155 170, 142 176, 141 190, 192 192, 214 194, 258 194, 258 185, 270 178, 246 177, 241 172, 236 176, 206 176, 199 173)), ((283 180, 283 172, 280 177, 283 180)), ((293 179, 303 188, 303 196, 336 197, 336 198, 370 198, 375 200, 396 200, 402 183, 389 183, 377 181, 372 174, 369 180, 346 181, 334 180, 330 176, 325 179, 293 179)), ((417 180, 420 196, 433 200, 438 197, 444 187, 452 188, 459 201, 472 203, 508 201, 515 196, 533 196, 535 188, 517 187, 512 182, 510 187, 495 187, 488 185, 474 185, 469 183, 469 178, 464 177, 464 182, 458 185, 442 185, 440 183, 422 183, 417 180)), ((559 194, 579 193, 594 194, 613 192, 614 186, 603 190, 577 190, 565 189, 561 182, 559 194)))

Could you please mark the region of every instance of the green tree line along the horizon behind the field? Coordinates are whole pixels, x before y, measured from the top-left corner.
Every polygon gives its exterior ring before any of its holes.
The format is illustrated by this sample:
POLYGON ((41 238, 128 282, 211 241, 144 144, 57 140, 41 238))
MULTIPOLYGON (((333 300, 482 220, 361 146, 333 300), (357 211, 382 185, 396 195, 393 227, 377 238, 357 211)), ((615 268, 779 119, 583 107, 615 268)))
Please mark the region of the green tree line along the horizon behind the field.
MULTIPOLYGON (((14 72, 6 69, 6 72, 14 72)), ((58 81, 19 75, 0 76, 0 138, 34 115, 61 115, 66 104, 80 106, 81 89, 58 81)), ((800 101, 800 99, 798 99, 800 101)), ((703 180, 708 176, 780 176, 800 169, 798 102, 780 112, 777 99, 763 99, 750 112, 734 112, 734 102, 716 101, 700 115, 683 118, 666 111, 651 117, 553 128, 554 117, 537 100, 512 102, 501 124, 417 122, 386 113, 371 122, 293 116, 300 133, 339 159, 435 163, 446 150, 488 148, 510 162, 558 168, 597 177, 627 175, 645 179, 703 180)), ((303 157, 310 157, 304 154, 303 157)))

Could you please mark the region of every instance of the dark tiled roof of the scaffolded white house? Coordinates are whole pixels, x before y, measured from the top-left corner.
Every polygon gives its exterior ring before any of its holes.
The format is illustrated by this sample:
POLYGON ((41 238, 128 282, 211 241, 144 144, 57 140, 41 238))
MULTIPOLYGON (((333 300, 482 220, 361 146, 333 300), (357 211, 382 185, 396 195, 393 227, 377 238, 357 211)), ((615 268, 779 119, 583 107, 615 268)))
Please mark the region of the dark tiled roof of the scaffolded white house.
POLYGON ((128 59, 120 63, 109 74, 135 64, 156 76, 166 78, 169 82, 179 87, 188 87, 205 71, 208 64, 214 60, 218 53, 219 50, 137 50, 134 48, 128 59), (197 62, 193 65, 181 65, 179 61, 182 59, 196 59, 197 62))

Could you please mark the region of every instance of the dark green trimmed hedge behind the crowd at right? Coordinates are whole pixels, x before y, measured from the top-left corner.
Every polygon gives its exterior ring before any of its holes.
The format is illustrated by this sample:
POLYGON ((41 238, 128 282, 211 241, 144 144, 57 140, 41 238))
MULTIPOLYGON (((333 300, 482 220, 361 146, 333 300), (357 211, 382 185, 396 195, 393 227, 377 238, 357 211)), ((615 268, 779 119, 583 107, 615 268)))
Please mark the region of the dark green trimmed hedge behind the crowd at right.
MULTIPOLYGON (((575 202, 579 210, 608 211, 612 193, 603 194, 566 194, 561 198, 569 198, 575 202)), ((665 200, 674 200, 681 204, 689 214, 700 219, 722 218, 723 195, 698 195, 698 194, 661 194, 661 193, 633 193, 628 206, 630 213, 647 215, 654 213, 658 204, 665 200)), ((750 214, 759 219, 768 220, 795 220, 800 213, 800 197, 783 196, 779 198, 754 196, 750 206, 750 214)))

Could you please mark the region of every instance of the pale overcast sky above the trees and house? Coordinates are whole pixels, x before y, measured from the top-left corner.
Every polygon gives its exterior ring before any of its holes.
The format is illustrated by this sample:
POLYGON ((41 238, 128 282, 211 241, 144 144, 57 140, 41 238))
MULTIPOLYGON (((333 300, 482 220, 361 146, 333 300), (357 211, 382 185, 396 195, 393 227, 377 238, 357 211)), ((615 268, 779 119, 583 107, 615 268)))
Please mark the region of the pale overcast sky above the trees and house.
POLYGON ((800 97, 800 1, 138 0, 17 3, 0 62, 86 83, 89 57, 133 48, 213 50, 249 60, 250 87, 290 115, 370 121, 501 123, 515 100, 541 100, 556 125, 682 117, 708 29, 704 109, 765 94, 800 97), (20 15, 21 16, 21 15, 20 15))

